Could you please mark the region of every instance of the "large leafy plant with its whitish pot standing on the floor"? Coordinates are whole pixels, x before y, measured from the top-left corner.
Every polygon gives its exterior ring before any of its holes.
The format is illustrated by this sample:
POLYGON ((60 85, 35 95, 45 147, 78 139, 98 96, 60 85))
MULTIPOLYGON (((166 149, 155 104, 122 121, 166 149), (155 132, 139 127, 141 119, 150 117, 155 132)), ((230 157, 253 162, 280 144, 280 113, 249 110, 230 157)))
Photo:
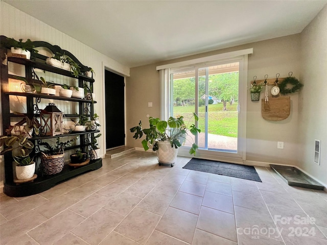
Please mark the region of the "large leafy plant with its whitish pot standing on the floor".
MULTIPOLYGON (((182 145, 184 139, 189 139, 186 138, 188 133, 197 135, 201 132, 194 124, 190 125, 192 118, 196 121, 199 120, 195 113, 187 125, 184 123, 183 116, 171 116, 167 121, 150 117, 150 128, 142 129, 142 122, 139 121, 138 126, 131 128, 130 132, 135 133, 133 136, 135 139, 142 138, 143 135, 146 136, 142 140, 143 148, 147 151, 152 146, 152 150, 157 151, 159 164, 173 164, 178 153, 178 147, 182 145)), ((193 142, 189 153, 195 155, 197 149, 198 145, 193 142)))

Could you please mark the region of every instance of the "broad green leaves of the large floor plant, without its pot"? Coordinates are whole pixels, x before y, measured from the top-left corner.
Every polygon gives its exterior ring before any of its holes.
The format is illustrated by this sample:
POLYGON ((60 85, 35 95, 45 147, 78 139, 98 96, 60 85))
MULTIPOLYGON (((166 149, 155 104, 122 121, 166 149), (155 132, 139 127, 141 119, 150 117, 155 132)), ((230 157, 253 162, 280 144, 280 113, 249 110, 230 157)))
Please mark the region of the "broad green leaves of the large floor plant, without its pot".
MULTIPOLYGON (((197 114, 193 113, 193 117, 196 121, 199 120, 197 114)), ((130 132, 135 133, 133 136, 135 139, 142 138, 143 135, 146 136, 146 138, 142 140, 145 151, 149 150, 149 146, 151 145, 153 145, 152 150, 157 151, 159 149, 158 141, 168 141, 172 148, 175 147, 177 149, 182 145, 181 141, 184 141, 181 139, 186 139, 188 132, 193 135, 197 135, 201 132, 194 124, 189 126, 193 117, 189 119, 188 125, 185 125, 183 116, 171 116, 167 121, 150 117, 150 128, 142 129, 142 121, 139 121, 138 126, 131 128, 130 132)), ((199 146, 193 142, 189 153, 195 155, 198 148, 199 146)))

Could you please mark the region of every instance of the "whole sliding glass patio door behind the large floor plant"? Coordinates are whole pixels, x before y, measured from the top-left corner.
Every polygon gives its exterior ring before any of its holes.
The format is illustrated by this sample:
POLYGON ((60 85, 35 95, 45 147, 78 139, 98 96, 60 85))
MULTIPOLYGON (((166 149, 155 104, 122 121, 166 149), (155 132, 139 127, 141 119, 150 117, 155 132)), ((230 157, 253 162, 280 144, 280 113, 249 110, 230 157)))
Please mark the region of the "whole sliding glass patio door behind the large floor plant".
MULTIPOLYGON (((201 133, 193 140, 200 153, 242 157, 240 65, 242 60, 236 59, 171 71, 171 115, 188 119, 198 114, 201 133)), ((184 145, 191 143, 186 140, 184 145)))

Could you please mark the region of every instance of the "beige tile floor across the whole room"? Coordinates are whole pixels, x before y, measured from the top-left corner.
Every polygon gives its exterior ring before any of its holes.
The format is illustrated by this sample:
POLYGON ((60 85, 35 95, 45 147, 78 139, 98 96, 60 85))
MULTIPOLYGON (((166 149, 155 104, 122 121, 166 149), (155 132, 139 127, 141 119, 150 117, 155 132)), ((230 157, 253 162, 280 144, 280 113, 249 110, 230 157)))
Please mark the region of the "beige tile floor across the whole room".
POLYGON ((0 244, 327 244, 327 192, 158 166, 152 153, 25 197, 0 195, 0 244), (311 218, 309 218, 309 216, 311 218))

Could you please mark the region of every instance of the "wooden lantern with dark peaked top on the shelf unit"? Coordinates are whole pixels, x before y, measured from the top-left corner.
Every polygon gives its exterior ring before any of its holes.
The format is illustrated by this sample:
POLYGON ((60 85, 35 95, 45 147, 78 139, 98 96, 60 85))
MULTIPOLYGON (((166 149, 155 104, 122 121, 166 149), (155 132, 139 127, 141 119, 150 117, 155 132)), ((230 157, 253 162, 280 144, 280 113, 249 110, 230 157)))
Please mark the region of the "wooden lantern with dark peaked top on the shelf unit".
POLYGON ((55 136, 62 134, 62 117, 63 113, 55 104, 49 104, 41 110, 41 132, 43 135, 55 136))

